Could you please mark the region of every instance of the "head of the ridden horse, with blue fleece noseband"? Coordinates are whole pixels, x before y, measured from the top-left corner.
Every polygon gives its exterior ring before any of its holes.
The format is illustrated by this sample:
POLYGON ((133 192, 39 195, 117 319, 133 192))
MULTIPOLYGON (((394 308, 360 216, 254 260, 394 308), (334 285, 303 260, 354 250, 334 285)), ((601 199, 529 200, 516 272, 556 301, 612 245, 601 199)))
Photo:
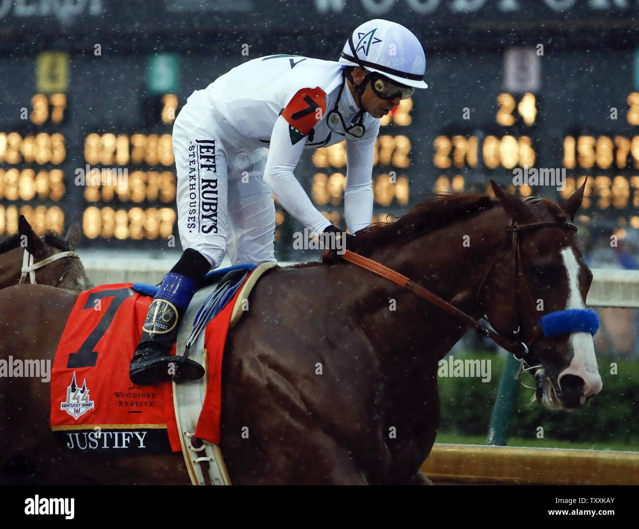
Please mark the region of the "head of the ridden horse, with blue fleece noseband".
POLYGON ((537 400, 548 408, 578 408, 601 391, 591 335, 598 320, 585 309, 592 272, 572 224, 584 186, 560 207, 522 201, 493 183, 510 224, 479 300, 496 331, 528 346, 537 400))

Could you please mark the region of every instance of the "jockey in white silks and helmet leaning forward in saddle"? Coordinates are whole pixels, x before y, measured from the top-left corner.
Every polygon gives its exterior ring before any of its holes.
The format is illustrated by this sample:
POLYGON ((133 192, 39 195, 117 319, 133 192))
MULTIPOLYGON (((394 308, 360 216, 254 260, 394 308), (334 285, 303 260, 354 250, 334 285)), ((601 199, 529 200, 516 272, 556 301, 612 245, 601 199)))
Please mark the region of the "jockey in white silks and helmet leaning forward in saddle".
POLYGON ((196 362, 170 355, 181 317, 225 252, 232 264, 276 262, 273 194, 309 232, 340 237, 293 174, 302 149, 346 139, 346 224, 351 233, 370 225, 380 118, 415 88, 427 87, 425 71, 415 35, 395 22, 370 20, 353 31, 339 63, 260 57, 189 97, 173 127, 178 230, 186 250, 149 307, 130 366, 134 384, 203 376, 196 362))

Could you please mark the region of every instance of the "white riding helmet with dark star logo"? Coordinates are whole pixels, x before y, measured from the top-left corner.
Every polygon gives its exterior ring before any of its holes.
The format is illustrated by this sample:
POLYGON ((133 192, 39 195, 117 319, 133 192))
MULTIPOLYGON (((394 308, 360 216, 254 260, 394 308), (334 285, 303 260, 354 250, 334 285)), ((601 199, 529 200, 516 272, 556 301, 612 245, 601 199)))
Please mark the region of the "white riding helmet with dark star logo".
POLYGON ((362 66, 404 86, 427 88, 424 48, 408 29, 390 20, 369 20, 348 38, 339 63, 362 66))

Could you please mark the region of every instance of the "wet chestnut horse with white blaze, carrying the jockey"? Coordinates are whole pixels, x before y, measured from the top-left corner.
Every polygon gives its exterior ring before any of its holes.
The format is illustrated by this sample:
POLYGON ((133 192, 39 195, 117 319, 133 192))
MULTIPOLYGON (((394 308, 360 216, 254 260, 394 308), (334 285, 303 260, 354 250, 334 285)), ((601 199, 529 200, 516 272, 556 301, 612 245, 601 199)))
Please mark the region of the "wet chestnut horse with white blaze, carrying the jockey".
MULTIPOLYGON (((518 327, 533 336, 539 313, 527 303, 524 278, 511 275, 516 248, 509 248, 507 225, 511 218, 544 224, 520 232, 518 244, 528 292, 543 300, 544 311, 583 308, 592 274, 574 231, 563 227, 580 207, 583 187, 562 207, 495 193, 497 199, 435 198, 394 223, 358 232, 352 250, 473 318, 486 315, 504 336, 518 327)), ((40 285, 0 292, 0 358, 52 359, 75 299, 40 285)), ((220 447, 231 480, 427 483, 419 468, 438 426, 438 361, 467 328, 348 262, 271 269, 226 342, 220 447)), ((537 394, 549 408, 580 407, 601 389, 587 332, 539 336, 529 355, 539 362, 537 394)), ((39 379, 0 378, 0 399, 1 482, 189 483, 179 453, 65 452, 49 427, 49 384, 39 379)))

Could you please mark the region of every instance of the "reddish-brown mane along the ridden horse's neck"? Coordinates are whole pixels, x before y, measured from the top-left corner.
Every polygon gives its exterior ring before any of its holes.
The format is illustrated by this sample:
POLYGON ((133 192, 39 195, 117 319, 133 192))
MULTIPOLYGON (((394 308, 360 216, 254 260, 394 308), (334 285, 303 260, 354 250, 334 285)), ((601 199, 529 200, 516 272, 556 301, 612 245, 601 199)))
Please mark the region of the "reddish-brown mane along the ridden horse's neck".
POLYGON ((491 209, 498 204, 497 198, 488 195, 426 195, 433 197, 413 207, 408 213, 396 217, 390 223, 373 224, 357 232, 357 253, 366 254, 380 242, 408 241, 417 234, 426 234, 439 230, 468 215, 477 214, 484 209, 491 209))

